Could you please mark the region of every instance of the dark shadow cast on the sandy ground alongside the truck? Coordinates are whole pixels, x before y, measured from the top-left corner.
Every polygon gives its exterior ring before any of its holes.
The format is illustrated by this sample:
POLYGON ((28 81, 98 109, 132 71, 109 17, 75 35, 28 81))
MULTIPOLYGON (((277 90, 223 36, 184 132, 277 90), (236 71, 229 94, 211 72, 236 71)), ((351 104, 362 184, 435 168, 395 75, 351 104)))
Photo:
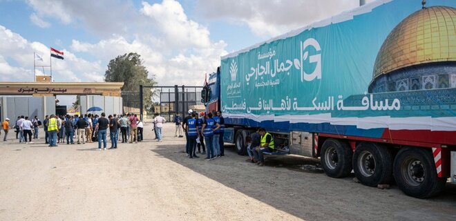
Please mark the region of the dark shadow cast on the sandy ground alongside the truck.
MULTIPOLYGON (((238 155, 232 145, 225 147, 224 157, 209 162, 202 160, 205 155, 200 155, 200 158, 197 159, 189 159, 183 153, 183 149, 183 145, 159 145, 158 148, 151 149, 151 151, 231 189, 249 195, 251 198, 303 219, 321 219, 322 217, 318 213, 325 210, 312 211, 312 208, 325 206, 336 206, 336 209, 332 209, 332 211, 347 213, 346 215, 353 215, 352 211, 359 210, 359 216, 355 215, 357 218, 354 219, 363 219, 365 218, 362 215, 363 211, 369 213, 375 203, 365 204, 360 208, 359 204, 358 206, 350 204, 350 199, 356 199, 356 195, 366 198, 365 193, 372 194, 374 198, 385 198, 384 204, 394 203, 397 200, 404 201, 404 204, 415 201, 424 204, 432 203, 430 201, 446 204, 454 203, 456 200, 456 185, 454 184, 448 184, 444 193, 426 202, 426 200, 404 195, 395 185, 390 190, 380 190, 356 184, 353 182, 353 174, 351 177, 343 179, 327 177, 321 174, 323 171, 319 166, 319 160, 313 158, 294 155, 269 156, 265 162, 266 166, 257 166, 247 162, 247 156, 238 155), (359 192, 357 189, 362 189, 363 192, 359 192), (351 198, 346 199, 348 195, 351 198), (332 202, 337 201, 339 202, 331 205, 332 202)), ((205 187, 200 186, 200 188, 205 187)), ((223 193, 220 193, 220 197, 222 195, 223 193)), ((412 205, 406 209, 412 209, 412 205)))

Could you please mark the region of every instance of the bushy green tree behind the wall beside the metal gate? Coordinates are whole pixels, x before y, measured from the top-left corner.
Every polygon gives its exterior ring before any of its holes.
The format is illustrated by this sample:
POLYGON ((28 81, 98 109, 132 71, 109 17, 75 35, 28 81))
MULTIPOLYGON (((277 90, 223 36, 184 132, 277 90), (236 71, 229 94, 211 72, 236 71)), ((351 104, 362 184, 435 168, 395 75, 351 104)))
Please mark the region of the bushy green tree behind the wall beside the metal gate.
MULTIPOLYGON (((124 82, 124 86, 121 88, 124 106, 139 108, 140 85, 154 86, 157 84, 153 77, 149 77, 149 71, 142 64, 141 55, 135 52, 119 55, 109 61, 104 80, 106 82, 124 82)), ((151 90, 144 90, 142 95, 144 108, 150 108, 153 105, 154 93, 151 90)))

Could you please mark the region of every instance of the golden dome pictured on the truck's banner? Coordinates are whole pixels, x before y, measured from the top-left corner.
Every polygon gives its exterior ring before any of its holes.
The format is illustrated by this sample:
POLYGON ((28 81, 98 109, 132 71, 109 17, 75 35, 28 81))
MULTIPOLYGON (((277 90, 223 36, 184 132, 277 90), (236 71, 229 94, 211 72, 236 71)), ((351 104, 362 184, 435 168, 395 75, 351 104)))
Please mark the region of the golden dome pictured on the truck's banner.
POLYGON ((373 79, 392 70, 436 61, 456 61, 456 9, 433 6, 403 19, 375 59, 373 79))

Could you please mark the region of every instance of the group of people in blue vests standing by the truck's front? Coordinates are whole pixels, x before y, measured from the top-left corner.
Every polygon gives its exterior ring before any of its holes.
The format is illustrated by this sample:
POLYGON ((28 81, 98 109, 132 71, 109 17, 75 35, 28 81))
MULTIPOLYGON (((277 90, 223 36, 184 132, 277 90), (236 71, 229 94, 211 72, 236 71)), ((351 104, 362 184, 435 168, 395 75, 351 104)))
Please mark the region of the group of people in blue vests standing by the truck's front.
MULTIPOLYGON (((213 160, 225 155, 223 146, 225 119, 220 111, 198 114, 189 110, 189 115, 182 121, 182 129, 187 139, 185 153, 189 158, 198 158, 196 153, 206 154, 205 160, 213 160), (196 151, 197 147, 198 151, 196 151)), ((178 130, 180 129, 176 127, 175 135, 178 130)))

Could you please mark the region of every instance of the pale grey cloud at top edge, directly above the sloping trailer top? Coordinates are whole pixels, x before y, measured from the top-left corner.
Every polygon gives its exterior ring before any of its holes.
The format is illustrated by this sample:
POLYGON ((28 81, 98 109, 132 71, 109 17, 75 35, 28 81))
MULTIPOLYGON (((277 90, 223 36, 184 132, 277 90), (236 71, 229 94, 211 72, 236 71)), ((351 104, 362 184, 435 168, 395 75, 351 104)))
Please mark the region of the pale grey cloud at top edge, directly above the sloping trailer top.
POLYGON ((272 37, 357 6, 358 0, 198 0, 195 8, 207 19, 246 23, 256 35, 272 37))

